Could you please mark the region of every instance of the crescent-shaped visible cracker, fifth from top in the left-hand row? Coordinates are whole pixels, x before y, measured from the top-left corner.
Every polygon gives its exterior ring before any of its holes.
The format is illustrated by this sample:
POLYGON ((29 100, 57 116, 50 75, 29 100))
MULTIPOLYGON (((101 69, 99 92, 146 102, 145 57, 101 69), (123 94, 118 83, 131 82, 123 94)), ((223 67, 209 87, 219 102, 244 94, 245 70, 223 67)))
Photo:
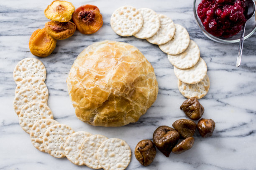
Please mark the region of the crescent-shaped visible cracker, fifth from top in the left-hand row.
POLYGON ((36 149, 45 152, 43 145, 44 133, 46 132, 47 128, 58 123, 59 122, 53 119, 41 119, 34 123, 30 130, 30 140, 36 149))

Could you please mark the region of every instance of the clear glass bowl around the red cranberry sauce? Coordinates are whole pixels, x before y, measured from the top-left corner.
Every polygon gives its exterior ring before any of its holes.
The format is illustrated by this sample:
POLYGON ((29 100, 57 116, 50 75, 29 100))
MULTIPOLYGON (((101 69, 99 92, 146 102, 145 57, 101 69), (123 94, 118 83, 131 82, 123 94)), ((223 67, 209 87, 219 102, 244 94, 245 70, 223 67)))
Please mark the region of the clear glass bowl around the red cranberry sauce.
MULTIPOLYGON (((197 25, 199 25, 200 29, 202 30, 202 32, 205 34, 206 37, 208 37, 210 40, 213 40, 215 42, 220 42, 220 43, 234 43, 234 42, 240 42, 240 37, 241 37, 241 33, 238 32, 238 34, 233 35, 232 37, 216 37, 214 35, 211 35, 209 32, 207 32, 204 28, 204 26, 202 25, 202 22, 200 20, 200 18, 197 15, 197 7, 199 5, 199 3, 201 2, 201 0, 194 0, 193 3, 193 11, 194 11, 194 16, 195 16, 195 20, 197 25)), ((252 18, 250 20, 247 21, 246 23, 246 30, 244 33, 244 40, 248 37, 250 37, 251 35, 253 35, 253 33, 256 31, 256 18, 255 18, 255 13, 253 14, 252 18)))

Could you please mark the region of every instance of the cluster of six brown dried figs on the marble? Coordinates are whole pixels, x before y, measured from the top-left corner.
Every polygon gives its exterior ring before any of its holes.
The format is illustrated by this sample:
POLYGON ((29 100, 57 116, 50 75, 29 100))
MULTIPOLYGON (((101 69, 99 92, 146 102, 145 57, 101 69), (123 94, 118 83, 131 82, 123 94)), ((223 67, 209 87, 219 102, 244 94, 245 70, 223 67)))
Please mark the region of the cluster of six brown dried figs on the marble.
MULTIPOLYGON (((180 109, 192 120, 199 120, 203 113, 204 107, 195 97, 185 100, 180 109)), ((153 134, 151 140, 141 140, 134 151, 136 159, 141 165, 151 164, 156 156, 156 148, 166 157, 170 153, 180 154, 192 148, 195 139, 192 137, 198 129, 202 137, 210 137, 215 128, 215 122, 212 119, 200 119, 196 124, 188 119, 176 120, 172 126, 159 126, 153 134), (179 142, 179 140, 182 140, 179 142), (178 143, 179 142, 179 143, 178 143)))

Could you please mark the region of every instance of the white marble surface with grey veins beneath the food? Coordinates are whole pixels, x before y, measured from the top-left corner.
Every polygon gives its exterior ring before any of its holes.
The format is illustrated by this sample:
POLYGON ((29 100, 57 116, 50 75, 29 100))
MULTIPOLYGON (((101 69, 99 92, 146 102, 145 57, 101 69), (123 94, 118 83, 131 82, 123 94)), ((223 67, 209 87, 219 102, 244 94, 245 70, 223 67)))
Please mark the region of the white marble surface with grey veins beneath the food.
MULTIPOLYGON (((48 19, 44 9, 51 0, 0 1, 0 170, 76 170, 87 167, 73 165, 66 158, 57 159, 42 153, 30 142, 18 123, 13 110, 15 82, 13 69, 18 61, 33 57, 28 48, 32 32, 43 28, 48 19)), ((54 118, 74 130, 86 130, 108 138, 126 140, 132 150, 128 170, 255 170, 256 168, 256 36, 245 41, 241 67, 236 67, 238 43, 219 44, 208 40, 195 23, 192 0, 73 0, 73 5, 94 4, 100 8, 104 24, 93 35, 78 31, 67 40, 57 41, 54 52, 39 58, 47 70, 49 107, 54 118), (110 16, 123 5, 149 7, 169 16, 174 23, 187 28, 197 42, 206 61, 210 91, 200 100, 205 107, 204 118, 212 118, 216 128, 211 138, 201 138, 197 132, 192 149, 166 158, 157 150, 154 162, 142 167, 134 156, 136 144, 152 139, 159 125, 169 125, 186 118, 179 110, 185 98, 177 88, 177 78, 167 55, 156 45, 136 37, 120 37, 110 27, 110 16), (128 42, 141 50, 155 69, 159 94, 154 105, 136 123, 119 128, 93 127, 77 119, 67 92, 66 78, 77 55, 88 45, 101 40, 128 42)))

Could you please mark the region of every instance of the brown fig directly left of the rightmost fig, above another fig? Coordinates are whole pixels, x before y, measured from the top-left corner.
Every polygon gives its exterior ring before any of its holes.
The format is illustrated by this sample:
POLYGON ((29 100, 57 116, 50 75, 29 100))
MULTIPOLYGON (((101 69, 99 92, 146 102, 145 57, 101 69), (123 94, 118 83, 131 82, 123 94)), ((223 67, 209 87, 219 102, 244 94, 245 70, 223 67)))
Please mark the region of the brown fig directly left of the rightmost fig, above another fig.
POLYGON ((179 132, 182 138, 187 138, 189 136, 193 136, 195 130, 197 129, 197 124, 192 120, 188 119, 179 119, 176 120, 172 126, 175 130, 179 132))

